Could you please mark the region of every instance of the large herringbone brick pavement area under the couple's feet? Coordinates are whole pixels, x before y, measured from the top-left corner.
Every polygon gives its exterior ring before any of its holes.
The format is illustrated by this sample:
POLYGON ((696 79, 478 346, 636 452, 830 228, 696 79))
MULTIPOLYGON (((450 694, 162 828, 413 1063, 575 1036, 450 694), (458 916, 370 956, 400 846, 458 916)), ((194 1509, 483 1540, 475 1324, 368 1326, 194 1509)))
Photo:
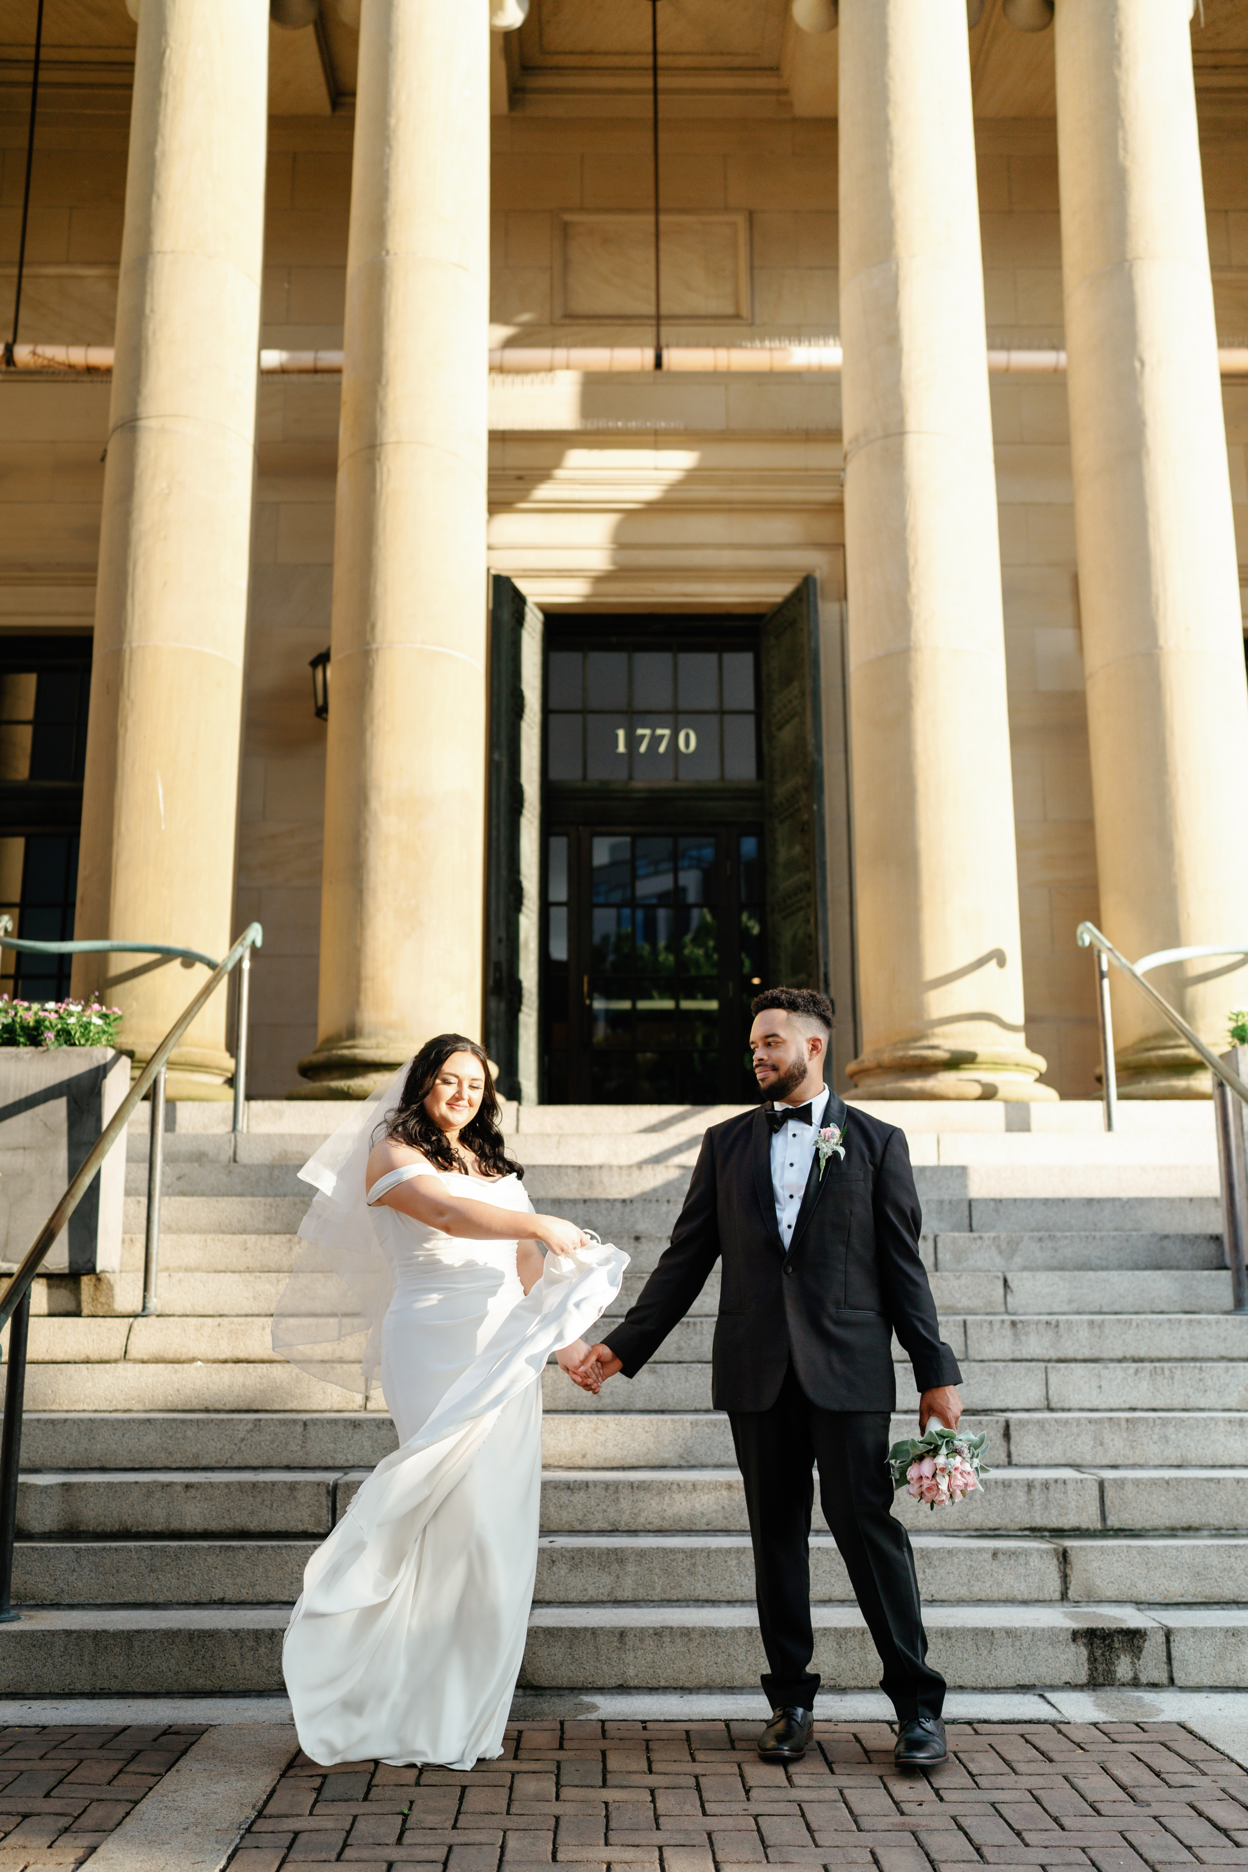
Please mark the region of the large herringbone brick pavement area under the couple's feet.
POLYGON ((917 1777, 883 1722, 816 1724, 790 1771, 758 1728, 522 1722, 470 1773, 297 1756, 230 1872, 1248 1866, 1248 1773, 1175 1722, 951 1724, 951 1760, 917 1777))

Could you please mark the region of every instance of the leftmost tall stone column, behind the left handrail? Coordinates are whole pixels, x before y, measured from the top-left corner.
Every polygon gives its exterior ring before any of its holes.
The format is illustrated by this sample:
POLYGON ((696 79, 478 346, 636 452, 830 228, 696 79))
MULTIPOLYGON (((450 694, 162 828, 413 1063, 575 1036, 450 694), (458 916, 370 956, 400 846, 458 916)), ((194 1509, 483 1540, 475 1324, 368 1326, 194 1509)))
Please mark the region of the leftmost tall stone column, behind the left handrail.
MULTIPOLYGON (((230 947, 269 9, 142 0, 109 412, 79 936, 230 947)), ((202 970, 84 957, 146 1060, 202 970)), ((226 1097, 226 996, 170 1097, 226 1097)))

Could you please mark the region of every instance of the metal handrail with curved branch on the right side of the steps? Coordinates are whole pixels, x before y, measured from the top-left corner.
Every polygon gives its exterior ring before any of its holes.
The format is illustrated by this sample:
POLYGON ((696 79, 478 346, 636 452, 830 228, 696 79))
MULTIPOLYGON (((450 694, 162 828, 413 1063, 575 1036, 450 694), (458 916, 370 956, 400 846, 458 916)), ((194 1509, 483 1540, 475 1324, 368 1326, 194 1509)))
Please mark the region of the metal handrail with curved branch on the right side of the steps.
POLYGON ((1095 923, 1080 923, 1074 938, 1080 949, 1096 951, 1096 985, 1100 1013, 1100 1058, 1106 1088, 1106 1131, 1115 1129, 1117 1119, 1117 1076, 1113 1061, 1113 1016, 1110 1013, 1110 962, 1121 968, 1138 988, 1149 996, 1154 1007, 1166 1015, 1171 1028, 1184 1037, 1188 1046, 1199 1054, 1212 1073, 1212 1103, 1218 1134, 1218 1183, 1222 1189, 1222 1239, 1226 1262, 1231 1269, 1231 1292, 1235 1312, 1248 1312, 1248 1144, 1244 1140, 1244 1112, 1235 1112, 1231 1093, 1248 1106, 1248 1084, 1226 1061, 1205 1045, 1177 1007, 1171 1007, 1153 983, 1143 979, 1145 970, 1162 968, 1166 962, 1194 962, 1203 957, 1241 955, 1248 958, 1248 943, 1199 943, 1188 949, 1156 949, 1128 962, 1113 947, 1095 923))

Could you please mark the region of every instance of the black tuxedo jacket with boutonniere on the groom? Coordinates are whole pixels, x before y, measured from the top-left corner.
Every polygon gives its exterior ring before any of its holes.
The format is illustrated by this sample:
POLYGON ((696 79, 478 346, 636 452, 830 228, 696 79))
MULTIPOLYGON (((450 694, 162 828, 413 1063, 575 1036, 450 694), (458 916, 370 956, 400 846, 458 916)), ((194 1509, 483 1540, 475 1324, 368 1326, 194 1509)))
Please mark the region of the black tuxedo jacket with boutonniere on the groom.
POLYGON ((786 1252, 771 1185, 763 1110, 711 1125, 702 1140, 672 1245, 602 1340, 632 1378, 685 1318, 722 1260, 711 1353, 717 1410, 769 1410, 790 1359, 812 1404, 883 1411, 896 1406, 892 1333, 921 1391, 960 1380, 941 1340, 919 1256, 922 1211, 906 1133, 834 1093, 823 1112, 842 1125, 846 1155, 820 1157, 786 1252))

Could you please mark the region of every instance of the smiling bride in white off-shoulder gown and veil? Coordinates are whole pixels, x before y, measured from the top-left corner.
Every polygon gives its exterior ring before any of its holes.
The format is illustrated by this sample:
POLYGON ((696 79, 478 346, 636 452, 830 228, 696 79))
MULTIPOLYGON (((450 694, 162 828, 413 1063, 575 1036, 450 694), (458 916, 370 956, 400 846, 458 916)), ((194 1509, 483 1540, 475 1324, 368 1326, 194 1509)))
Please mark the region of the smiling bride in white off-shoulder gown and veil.
POLYGON ((428 1041, 299 1176, 318 1194, 273 1348, 365 1397, 380 1368, 400 1445, 305 1569, 283 1647, 299 1745, 466 1769, 501 1754, 524 1655, 541 1370, 554 1350, 599 1389, 582 1333, 627 1256, 533 1213, 485 1052, 460 1033, 428 1041))

